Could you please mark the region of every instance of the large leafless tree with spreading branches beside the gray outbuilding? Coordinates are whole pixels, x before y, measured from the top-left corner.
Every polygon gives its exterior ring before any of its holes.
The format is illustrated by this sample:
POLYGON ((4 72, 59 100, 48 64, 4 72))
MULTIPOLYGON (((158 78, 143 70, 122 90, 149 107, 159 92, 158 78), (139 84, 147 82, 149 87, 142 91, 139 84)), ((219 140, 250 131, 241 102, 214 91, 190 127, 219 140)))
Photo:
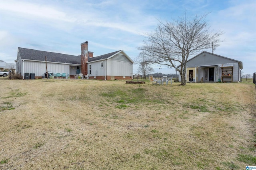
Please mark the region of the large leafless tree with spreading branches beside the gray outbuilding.
POLYGON ((147 57, 150 63, 164 64, 175 68, 175 62, 180 66, 177 71, 181 75, 181 85, 186 85, 186 63, 190 55, 204 49, 216 48, 220 42, 222 31, 210 30, 206 16, 189 18, 186 13, 173 22, 159 21, 156 30, 147 33, 144 45, 138 49, 147 57))

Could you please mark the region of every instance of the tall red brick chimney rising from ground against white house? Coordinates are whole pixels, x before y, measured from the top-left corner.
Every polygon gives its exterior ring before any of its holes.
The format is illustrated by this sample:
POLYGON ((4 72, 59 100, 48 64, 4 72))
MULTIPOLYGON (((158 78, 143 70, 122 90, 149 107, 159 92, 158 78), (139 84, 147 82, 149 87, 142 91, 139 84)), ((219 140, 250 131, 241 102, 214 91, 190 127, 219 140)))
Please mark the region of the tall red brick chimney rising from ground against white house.
POLYGON ((81 73, 87 74, 88 41, 81 43, 81 73))

